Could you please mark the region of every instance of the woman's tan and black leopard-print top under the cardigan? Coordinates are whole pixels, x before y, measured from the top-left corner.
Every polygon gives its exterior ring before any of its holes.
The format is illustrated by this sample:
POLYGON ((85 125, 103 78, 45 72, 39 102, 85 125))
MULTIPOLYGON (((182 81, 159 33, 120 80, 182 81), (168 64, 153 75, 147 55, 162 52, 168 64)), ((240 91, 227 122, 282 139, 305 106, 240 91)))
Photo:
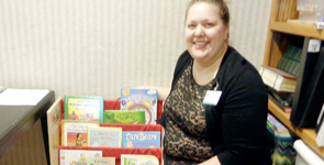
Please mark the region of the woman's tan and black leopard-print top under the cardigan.
POLYGON ((206 90, 215 78, 199 86, 192 76, 192 62, 165 101, 167 119, 164 139, 164 161, 171 164, 198 164, 213 156, 206 138, 205 110, 202 106, 206 90))

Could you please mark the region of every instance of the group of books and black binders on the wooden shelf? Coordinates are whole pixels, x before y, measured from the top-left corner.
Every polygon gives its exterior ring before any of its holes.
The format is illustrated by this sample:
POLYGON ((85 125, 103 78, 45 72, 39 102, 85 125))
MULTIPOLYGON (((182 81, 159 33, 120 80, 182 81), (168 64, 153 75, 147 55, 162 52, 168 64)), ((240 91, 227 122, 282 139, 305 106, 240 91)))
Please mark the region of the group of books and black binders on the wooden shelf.
POLYGON ((289 44, 277 67, 261 66, 259 74, 269 99, 291 112, 295 127, 315 128, 324 102, 324 45, 305 37, 303 47, 289 44))

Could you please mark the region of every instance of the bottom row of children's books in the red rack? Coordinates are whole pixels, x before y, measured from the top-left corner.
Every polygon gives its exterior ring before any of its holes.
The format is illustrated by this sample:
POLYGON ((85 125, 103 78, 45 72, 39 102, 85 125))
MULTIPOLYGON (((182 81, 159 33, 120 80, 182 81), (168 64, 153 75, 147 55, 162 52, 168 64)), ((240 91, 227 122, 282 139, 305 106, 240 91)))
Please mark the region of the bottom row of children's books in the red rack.
MULTIPOLYGON (((113 156, 102 156, 102 151, 60 150, 62 165, 115 165, 113 156)), ((154 155, 121 154, 121 165, 159 165, 154 155)))

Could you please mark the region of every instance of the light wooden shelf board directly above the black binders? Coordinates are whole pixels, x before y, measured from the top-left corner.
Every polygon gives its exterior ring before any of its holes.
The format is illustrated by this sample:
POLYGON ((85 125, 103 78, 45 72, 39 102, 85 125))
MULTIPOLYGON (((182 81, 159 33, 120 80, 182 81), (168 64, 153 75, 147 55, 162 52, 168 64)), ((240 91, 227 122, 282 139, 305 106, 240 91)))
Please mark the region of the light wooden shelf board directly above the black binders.
POLYGON ((324 30, 316 30, 301 24, 270 22, 269 29, 275 32, 324 40, 324 30))

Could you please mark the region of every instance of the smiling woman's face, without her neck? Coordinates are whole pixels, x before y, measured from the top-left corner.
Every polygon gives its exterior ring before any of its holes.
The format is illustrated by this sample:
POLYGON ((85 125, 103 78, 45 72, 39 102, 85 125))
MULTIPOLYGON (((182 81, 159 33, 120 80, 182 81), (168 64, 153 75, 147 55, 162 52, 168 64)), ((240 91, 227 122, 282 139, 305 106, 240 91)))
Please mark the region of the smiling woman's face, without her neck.
POLYGON ((227 48, 228 25, 224 25, 217 6, 199 2, 187 13, 186 45, 197 61, 213 62, 227 48))

